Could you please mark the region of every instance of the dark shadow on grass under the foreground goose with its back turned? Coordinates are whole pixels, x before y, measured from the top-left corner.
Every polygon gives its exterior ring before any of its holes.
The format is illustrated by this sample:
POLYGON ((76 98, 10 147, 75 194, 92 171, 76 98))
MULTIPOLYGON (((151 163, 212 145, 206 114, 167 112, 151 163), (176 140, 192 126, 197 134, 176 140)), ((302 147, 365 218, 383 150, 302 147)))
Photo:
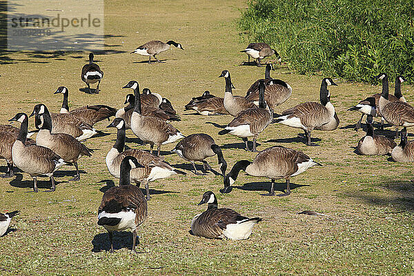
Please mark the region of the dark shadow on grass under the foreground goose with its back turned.
MULTIPOLYGON (((104 229, 104 228, 102 228, 104 229)), ((139 229, 138 229, 139 230, 139 229)), ((114 237, 112 240, 114 250, 119 250, 122 248, 132 249, 132 232, 129 231, 116 231, 114 232, 114 237)), ((137 239, 137 246, 139 245, 139 238, 137 239)), ((110 250, 110 242, 108 232, 100 233, 95 235, 92 239, 92 252, 98 253, 102 250, 110 250)), ((139 247, 135 248, 139 250, 139 247)))

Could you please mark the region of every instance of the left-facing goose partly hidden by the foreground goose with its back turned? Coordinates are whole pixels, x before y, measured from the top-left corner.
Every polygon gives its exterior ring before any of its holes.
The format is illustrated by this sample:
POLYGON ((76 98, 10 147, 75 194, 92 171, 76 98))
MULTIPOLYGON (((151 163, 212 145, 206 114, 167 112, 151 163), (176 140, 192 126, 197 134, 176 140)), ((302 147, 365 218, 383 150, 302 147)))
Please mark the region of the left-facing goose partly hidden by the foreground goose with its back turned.
POLYGON ((133 156, 137 158, 139 163, 144 166, 144 168, 135 168, 130 173, 130 180, 135 181, 135 183, 140 184, 141 181, 144 182, 147 194, 147 200, 150 199, 150 188, 148 182, 155 181, 157 179, 163 179, 175 175, 177 173, 185 175, 185 172, 181 170, 176 170, 172 168, 161 157, 152 155, 149 152, 144 150, 129 149, 124 150, 125 147, 125 121, 121 118, 115 118, 114 121, 108 126, 117 128, 117 141, 115 145, 110 149, 106 155, 105 161, 106 166, 111 175, 119 178, 119 164, 121 164, 122 159, 126 156, 133 156))

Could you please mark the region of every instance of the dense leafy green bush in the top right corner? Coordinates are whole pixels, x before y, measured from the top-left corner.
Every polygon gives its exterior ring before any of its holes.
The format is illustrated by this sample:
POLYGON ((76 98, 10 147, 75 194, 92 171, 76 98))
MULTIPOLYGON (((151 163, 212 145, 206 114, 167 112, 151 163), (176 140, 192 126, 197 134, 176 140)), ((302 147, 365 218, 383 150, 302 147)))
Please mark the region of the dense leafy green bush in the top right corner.
POLYGON ((291 70, 414 81, 414 6, 406 0, 255 0, 239 19, 249 42, 277 49, 291 70))

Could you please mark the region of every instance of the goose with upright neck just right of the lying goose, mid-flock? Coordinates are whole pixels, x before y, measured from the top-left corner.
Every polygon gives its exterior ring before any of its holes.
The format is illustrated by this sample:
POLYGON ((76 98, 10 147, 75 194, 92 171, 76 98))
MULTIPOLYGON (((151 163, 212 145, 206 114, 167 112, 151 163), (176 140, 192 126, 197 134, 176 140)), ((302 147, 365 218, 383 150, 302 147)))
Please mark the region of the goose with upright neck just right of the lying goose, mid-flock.
POLYGON ((223 72, 221 72, 221 75, 219 75, 219 77, 224 77, 224 79, 226 79, 226 92, 224 92, 224 108, 226 108, 230 115, 236 117, 239 114, 239 112, 246 110, 248 108, 255 107, 255 103, 248 101, 245 97, 233 96, 233 92, 231 90, 231 77, 230 72, 228 72, 228 70, 224 70, 223 72))

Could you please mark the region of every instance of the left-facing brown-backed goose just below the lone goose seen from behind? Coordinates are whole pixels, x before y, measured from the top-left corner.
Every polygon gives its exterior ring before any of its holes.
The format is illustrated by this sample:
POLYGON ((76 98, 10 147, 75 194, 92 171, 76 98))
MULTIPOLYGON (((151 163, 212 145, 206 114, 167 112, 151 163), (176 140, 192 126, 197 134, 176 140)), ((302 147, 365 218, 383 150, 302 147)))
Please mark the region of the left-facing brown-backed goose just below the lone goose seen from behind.
POLYGON ((57 88, 54 94, 63 94, 63 101, 60 113, 69 113, 73 115, 81 121, 84 121, 86 124, 90 124, 93 126, 98 121, 102 121, 104 119, 108 119, 112 116, 115 116, 117 110, 115 108, 111 108, 110 106, 105 106, 103 104, 97 104, 93 106, 82 106, 81 108, 77 108, 69 112, 69 105, 68 105, 68 96, 69 90, 65 86, 60 86, 57 88))

